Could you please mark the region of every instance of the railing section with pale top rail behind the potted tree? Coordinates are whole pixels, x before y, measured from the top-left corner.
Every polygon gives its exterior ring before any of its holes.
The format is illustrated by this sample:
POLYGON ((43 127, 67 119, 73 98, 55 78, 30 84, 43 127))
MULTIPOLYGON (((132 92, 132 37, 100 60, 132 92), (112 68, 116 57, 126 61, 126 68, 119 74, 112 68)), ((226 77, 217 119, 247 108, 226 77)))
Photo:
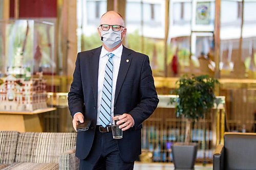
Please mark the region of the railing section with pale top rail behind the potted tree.
MULTIPOLYGON (((170 146, 183 142, 185 124, 176 118, 177 95, 158 95, 159 104, 154 114, 145 120, 142 129, 142 161, 172 161, 170 146), (151 159, 149 157, 151 156, 151 159)), ((198 162, 211 162, 219 143, 223 143, 225 132, 225 97, 217 96, 215 107, 193 126, 192 141, 198 143, 198 162)))

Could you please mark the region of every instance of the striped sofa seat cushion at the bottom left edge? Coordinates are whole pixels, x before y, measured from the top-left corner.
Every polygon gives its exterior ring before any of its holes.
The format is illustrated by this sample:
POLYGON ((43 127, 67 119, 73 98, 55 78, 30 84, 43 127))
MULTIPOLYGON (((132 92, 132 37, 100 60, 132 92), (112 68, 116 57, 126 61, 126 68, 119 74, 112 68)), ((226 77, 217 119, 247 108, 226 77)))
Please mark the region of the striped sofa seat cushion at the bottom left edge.
POLYGON ((12 163, 11 165, 3 168, 2 170, 9 170, 9 169, 15 169, 15 170, 24 170, 24 169, 33 169, 33 170, 39 170, 39 169, 47 169, 47 170, 57 170, 59 168, 58 163, 31 163, 31 162, 16 162, 12 163))

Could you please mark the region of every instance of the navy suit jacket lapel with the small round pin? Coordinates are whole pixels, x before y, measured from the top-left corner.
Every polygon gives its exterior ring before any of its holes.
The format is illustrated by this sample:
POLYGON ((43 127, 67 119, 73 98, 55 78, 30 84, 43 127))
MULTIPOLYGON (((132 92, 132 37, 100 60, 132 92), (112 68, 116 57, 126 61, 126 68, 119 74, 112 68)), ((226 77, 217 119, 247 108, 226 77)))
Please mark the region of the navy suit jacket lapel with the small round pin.
POLYGON ((120 67, 119 67, 117 82, 116 82, 116 92, 115 92, 114 106, 116 104, 116 100, 118 98, 118 94, 119 94, 120 89, 122 87, 124 78, 125 78, 125 76, 127 74, 127 71, 130 67, 131 59, 132 59, 131 52, 129 51, 129 49, 127 49, 126 47, 123 46, 123 52, 122 52, 122 56, 121 56, 121 62, 120 62, 120 67))

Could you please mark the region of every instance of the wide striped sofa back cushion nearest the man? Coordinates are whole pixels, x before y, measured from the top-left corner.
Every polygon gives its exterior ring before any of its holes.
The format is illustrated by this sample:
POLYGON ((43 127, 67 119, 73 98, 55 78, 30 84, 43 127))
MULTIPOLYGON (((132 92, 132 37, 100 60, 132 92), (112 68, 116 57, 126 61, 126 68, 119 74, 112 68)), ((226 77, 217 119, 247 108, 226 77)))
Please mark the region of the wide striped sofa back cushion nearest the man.
POLYGON ((15 162, 58 163, 62 152, 75 147, 76 133, 20 133, 15 162))

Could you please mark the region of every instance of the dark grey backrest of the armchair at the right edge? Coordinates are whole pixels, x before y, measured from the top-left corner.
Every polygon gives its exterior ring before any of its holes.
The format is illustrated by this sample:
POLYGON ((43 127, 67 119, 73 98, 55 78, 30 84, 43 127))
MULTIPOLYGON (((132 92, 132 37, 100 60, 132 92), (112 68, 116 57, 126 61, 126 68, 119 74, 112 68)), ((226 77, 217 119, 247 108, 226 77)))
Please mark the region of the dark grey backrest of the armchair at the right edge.
POLYGON ((225 169, 255 169, 256 135, 228 134, 224 136, 225 169))

